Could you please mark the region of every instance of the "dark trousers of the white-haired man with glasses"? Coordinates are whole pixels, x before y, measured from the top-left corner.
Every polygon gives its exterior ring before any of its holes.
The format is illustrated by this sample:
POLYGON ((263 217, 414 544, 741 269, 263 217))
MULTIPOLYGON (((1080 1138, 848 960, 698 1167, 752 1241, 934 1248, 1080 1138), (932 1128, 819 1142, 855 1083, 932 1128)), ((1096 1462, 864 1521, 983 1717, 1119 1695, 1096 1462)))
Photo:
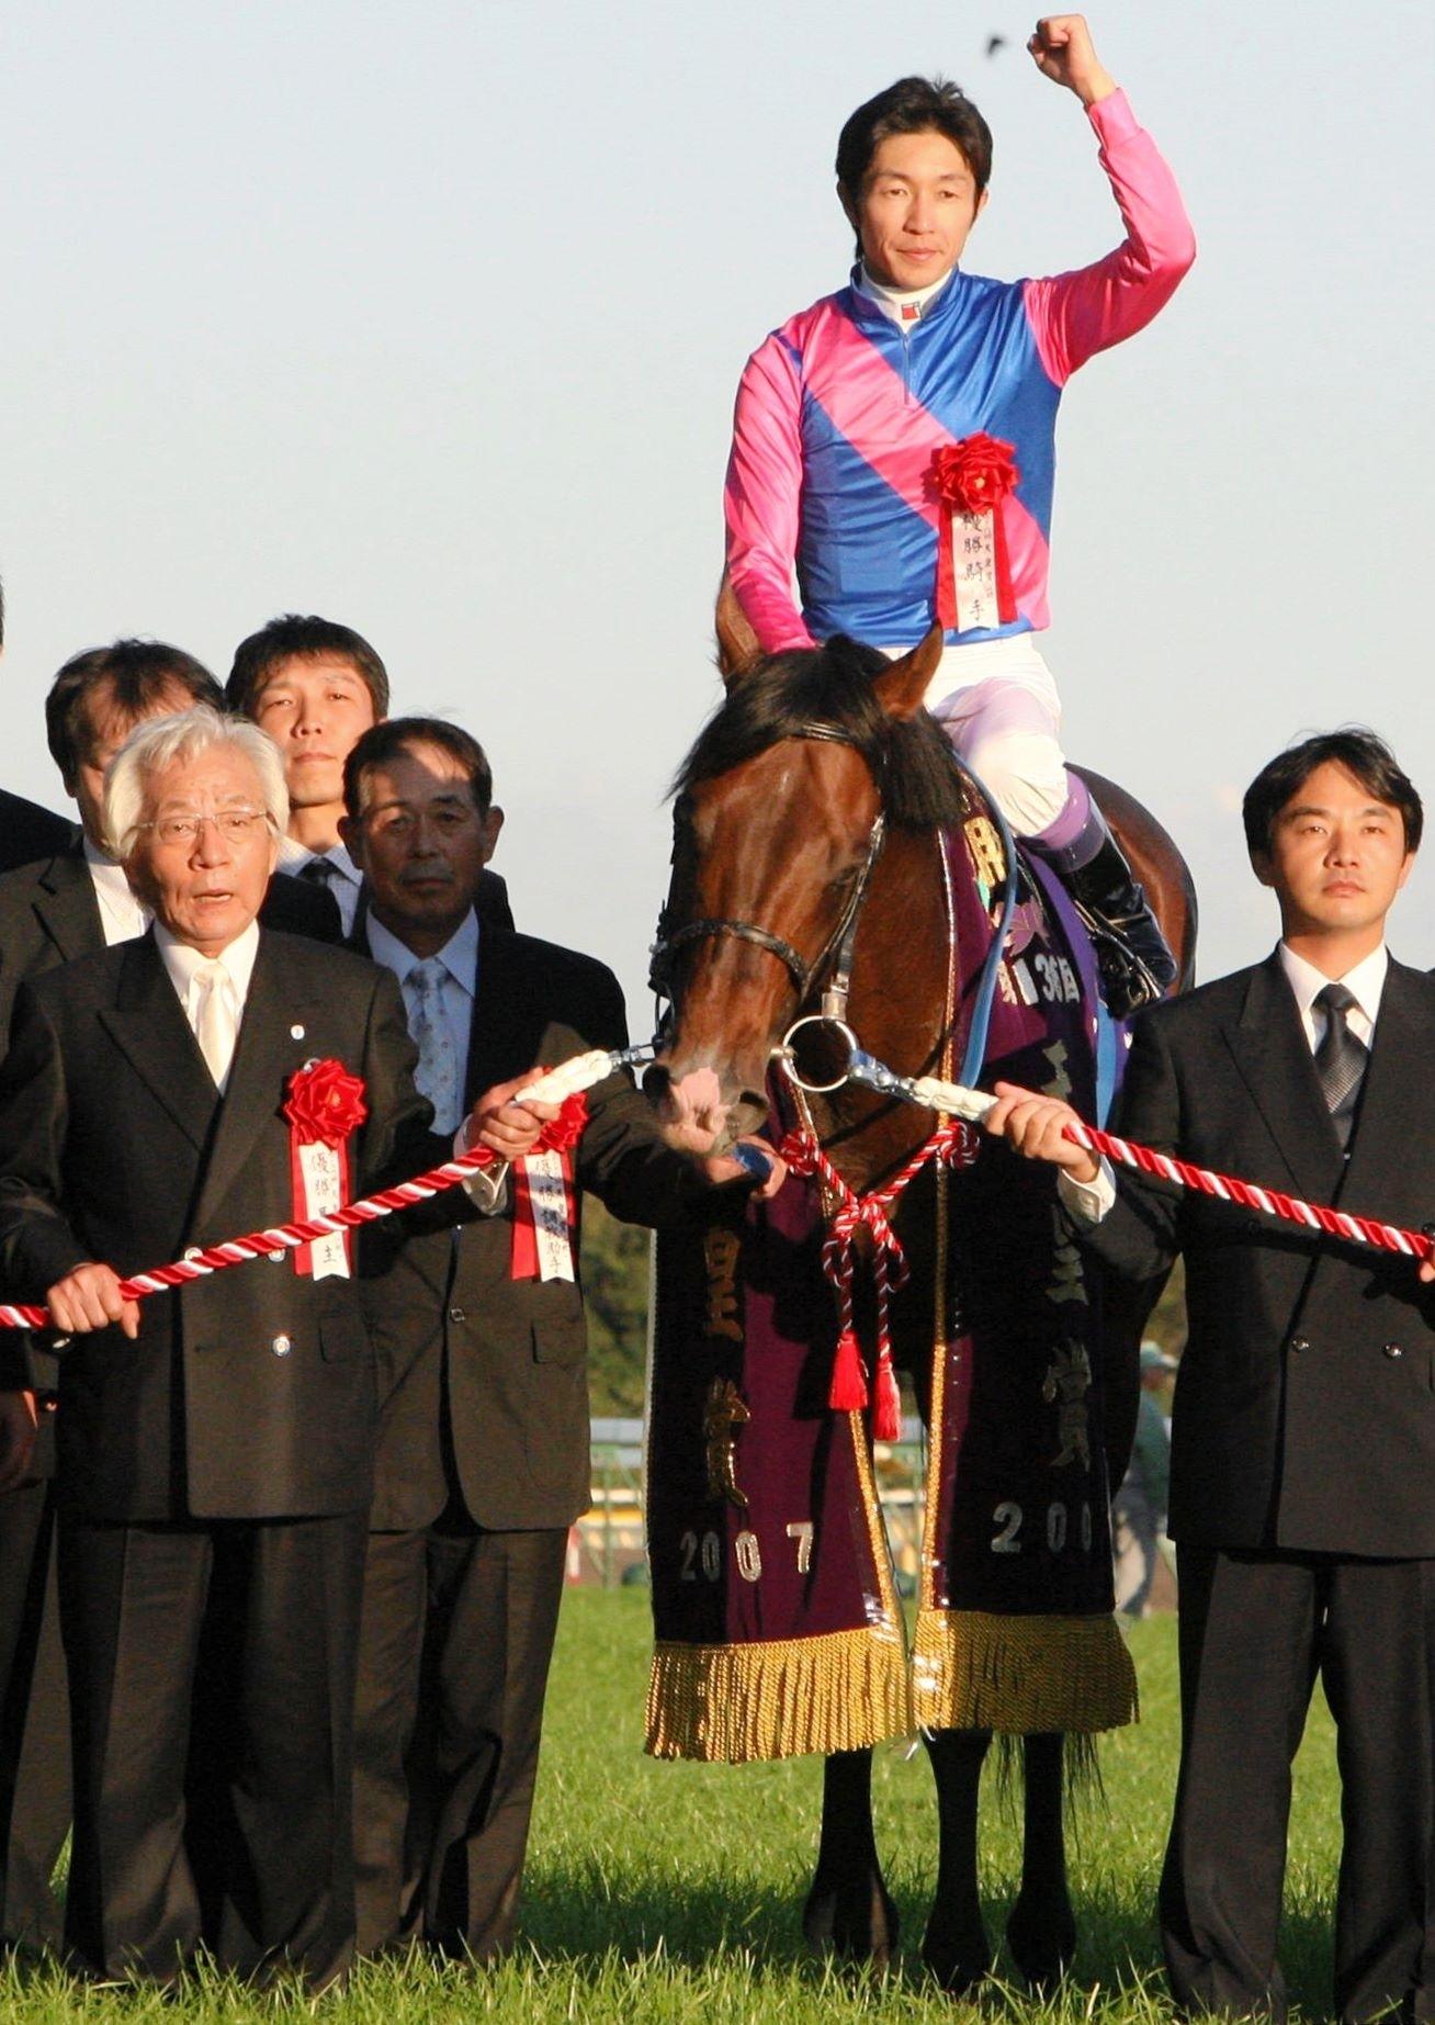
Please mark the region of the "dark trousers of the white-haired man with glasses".
POLYGON ((168 1980, 206 1946, 251 1978, 346 1968, 362 1555, 360 1513, 61 1519, 81 1964, 168 1980))

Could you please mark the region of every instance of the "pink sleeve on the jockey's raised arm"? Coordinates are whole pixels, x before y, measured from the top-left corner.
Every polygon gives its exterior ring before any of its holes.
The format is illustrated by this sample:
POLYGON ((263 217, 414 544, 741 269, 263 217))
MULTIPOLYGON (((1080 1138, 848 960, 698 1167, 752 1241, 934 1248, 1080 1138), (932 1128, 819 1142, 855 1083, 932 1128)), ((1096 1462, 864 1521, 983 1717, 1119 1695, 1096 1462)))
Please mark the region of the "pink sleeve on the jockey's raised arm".
POLYGON ((1135 124, 1125 91, 1087 107, 1087 117, 1101 142, 1125 239, 1093 267, 1022 284, 1036 350, 1059 387, 1093 352, 1144 330, 1196 257, 1176 178, 1135 124))

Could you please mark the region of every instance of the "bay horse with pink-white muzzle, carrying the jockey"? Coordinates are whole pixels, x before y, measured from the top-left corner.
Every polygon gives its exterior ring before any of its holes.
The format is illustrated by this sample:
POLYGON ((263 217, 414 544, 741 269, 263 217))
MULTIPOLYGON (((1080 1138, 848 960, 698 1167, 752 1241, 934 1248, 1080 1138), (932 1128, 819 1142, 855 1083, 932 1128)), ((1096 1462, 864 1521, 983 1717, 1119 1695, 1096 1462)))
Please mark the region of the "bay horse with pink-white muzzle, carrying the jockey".
MULTIPOLYGON (((773 1053, 797 1015, 816 1010, 836 946, 852 927, 846 1019, 862 1047, 901 1073, 929 1073, 941 1059, 949 952, 933 828, 959 814, 961 788, 939 729, 921 709, 941 654, 939 630, 895 662, 848 640, 763 660, 733 628, 733 605, 723 599, 719 648, 727 703, 678 780, 678 840, 660 929, 672 1019, 646 1089, 660 1116, 672 1116, 686 1091, 710 1089, 716 1079, 731 1140, 765 1124, 773 1053), (903 806, 893 806, 895 792, 903 806), (878 816, 884 834, 874 848, 878 816)), ((1087 778, 1188 980, 1196 911, 1186 867, 1139 804, 1099 776, 1087 778)), ((897 1172, 931 1130, 929 1114, 850 1085, 810 1102, 830 1160, 858 1195, 897 1172)), ((1127 1298, 1103 1345, 1117 1407, 1105 1426, 1111 1484, 1121 1480, 1131 1446, 1150 1298, 1154 1290, 1139 1312, 1127 1298)), ((895 1334, 901 1324, 895 1310, 895 1334)), ((923 1958, 951 1993, 972 1987, 992 1962, 976 1861, 978 1782, 990 1742, 986 1729, 927 1737, 941 1841, 923 1958)), ((1006 1938, 1032 1987, 1050 1987, 1075 1950, 1063 1746, 1061 1733, 1022 1739, 1022 1881, 1006 1938)), ((826 1760, 804 1932, 816 1946, 878 1964, 897 1944, 897 1908, 872 1831, 870 1750, 826 1760)))

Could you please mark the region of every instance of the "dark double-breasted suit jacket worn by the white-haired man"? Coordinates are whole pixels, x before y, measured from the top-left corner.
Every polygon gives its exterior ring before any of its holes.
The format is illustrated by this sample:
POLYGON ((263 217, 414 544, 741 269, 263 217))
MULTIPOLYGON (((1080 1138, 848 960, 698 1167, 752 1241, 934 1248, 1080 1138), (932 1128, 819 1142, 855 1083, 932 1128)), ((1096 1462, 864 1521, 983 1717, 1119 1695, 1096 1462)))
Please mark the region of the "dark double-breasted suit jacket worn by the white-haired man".
MULTIPOLYGON (((415 1172, 429 1106, 393 976, 261 932, 219 1100, 154 936, 22 984, 0 1067, 0 1280, 18 1300, 85 1260, 121 1276, 283 1221, 289 1075, 362 1075, 358 1195, 415 1172)), ((257 1260, 140 1304, 140 1341, 61 1361, 61 1494, 91 1519, 271 1519, 368 1501, 374 1371, 358 1280, 257 1260)))

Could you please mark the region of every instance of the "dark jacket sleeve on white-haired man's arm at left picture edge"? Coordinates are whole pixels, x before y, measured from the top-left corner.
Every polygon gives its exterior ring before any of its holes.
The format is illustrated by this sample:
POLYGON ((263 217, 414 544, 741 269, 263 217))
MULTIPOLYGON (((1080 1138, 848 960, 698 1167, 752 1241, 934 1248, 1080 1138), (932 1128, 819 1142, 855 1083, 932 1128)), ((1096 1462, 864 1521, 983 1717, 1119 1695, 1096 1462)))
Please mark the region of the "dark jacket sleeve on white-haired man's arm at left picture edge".
POLYGON ((22 984, 0 1063, 0 1284, 8 1300, 43 1300, 89 1258, 61 1211, 67 1116, 59 1037, 22 984))

